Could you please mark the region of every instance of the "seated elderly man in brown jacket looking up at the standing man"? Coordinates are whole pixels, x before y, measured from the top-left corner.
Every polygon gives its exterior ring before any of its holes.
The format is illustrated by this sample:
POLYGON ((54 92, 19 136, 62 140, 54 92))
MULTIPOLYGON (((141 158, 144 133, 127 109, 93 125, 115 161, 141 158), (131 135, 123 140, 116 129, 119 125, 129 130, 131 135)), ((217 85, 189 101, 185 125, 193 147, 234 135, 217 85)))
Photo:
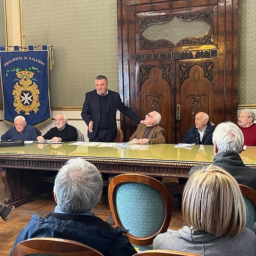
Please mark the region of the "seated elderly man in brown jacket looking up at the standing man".
POLYGON ((129 139, 137 144, 161 144, 165 143, 164 129, 158 125, 161 115, 152 111, 145 116, 144 123, 139 123, 135 133, 129 139))

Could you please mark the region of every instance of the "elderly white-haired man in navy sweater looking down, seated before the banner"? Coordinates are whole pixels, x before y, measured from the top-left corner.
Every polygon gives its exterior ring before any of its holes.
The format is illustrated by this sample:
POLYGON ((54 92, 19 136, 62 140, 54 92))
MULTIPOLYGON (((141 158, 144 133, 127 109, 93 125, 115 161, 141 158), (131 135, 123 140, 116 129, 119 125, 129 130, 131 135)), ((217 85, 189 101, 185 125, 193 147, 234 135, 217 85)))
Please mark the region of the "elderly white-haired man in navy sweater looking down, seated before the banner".
POLYGON ((36 140, 37 134, 35 128, 27 125, 24 116, 16 116, 13 122, 15 126, 3 134, 1 140, 36 140))

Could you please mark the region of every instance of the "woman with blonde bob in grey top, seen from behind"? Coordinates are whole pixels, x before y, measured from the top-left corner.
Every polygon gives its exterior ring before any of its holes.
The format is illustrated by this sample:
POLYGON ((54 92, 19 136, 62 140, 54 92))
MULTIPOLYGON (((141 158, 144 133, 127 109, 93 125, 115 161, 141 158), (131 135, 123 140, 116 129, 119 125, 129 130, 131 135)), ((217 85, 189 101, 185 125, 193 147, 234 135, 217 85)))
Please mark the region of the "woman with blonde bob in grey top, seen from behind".
POLYGON ((245 228, 243 195, 226 170, 209 165, 191 175, 184 187, 182 212, 189 225, 158 234, 154 249, 205 256, 256 255, 255 234, 245 228))

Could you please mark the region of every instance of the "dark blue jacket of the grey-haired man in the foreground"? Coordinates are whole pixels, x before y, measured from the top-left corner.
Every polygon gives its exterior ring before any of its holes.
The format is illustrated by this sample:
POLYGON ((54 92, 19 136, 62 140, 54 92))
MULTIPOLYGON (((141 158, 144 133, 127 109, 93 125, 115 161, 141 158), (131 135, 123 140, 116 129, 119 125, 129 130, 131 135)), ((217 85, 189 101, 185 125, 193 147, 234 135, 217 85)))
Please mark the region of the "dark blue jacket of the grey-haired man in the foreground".
POLYGON ((93 247, 105 256, 132 256, 136 253, 125 229, 113 228, 98 217, 86 215, 56 214, 46 218, 33 215, 28 225, 19 232, 13 245, 30 238, 54 237, 77 241, 93 247))

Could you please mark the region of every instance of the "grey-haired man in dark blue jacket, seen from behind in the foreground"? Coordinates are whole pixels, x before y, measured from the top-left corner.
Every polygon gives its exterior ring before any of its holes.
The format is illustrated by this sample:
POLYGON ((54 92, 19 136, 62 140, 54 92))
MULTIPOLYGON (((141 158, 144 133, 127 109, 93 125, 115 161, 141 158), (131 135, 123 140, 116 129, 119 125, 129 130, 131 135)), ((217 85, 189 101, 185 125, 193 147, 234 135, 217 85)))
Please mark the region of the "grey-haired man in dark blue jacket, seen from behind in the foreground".
MULTIPOLYGON (((36 237, 54 237, 80 242, 105 256, 131 256, 136 250, 124 236, 127 230, 113 228, 93 213, 100 200, 102 177, 99 170, 81 158, 69 160, 55 178, 54 212, 45 218, 32 216, 13 245, 36 237)), ((13 251, 12 248, 12 251, 13 251)), ((11 255, 12 255, 11 251, 11 255)))

